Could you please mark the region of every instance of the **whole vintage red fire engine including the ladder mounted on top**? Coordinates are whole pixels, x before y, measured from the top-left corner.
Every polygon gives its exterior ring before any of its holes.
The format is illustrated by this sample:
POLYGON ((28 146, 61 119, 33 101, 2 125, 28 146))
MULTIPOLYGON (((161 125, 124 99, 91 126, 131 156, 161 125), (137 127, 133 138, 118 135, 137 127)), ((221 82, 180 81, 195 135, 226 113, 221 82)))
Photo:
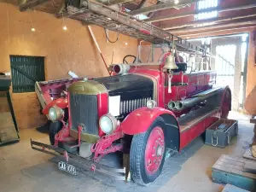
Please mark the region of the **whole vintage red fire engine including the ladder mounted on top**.
POLYGON ((76 174, 76 166, 85 166, 112 174, 101 160, 120 151, 129 157, 125 167, 132 180, 152 183, 160 176, 167 148, 179 152, 218 119, 227 118, 230 88, 215 87, 214 71, 188 66, 180 55, 201 56, 205 65, 206 49, 101 3, 82 1, 67 14, 153 44, 149 52, 139 47, 133 63, 113 65, 109 77, 68 85, 61 98, 44 107, 52 120, 51 145, 31 141, 32 148, 64 154, 61 170, 76 174))

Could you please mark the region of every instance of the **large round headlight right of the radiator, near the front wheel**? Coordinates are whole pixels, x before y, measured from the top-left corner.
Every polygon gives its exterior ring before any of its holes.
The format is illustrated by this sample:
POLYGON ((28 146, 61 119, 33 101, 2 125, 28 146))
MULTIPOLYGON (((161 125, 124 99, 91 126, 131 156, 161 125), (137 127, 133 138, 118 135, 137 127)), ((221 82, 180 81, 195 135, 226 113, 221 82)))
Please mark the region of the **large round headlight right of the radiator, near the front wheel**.
POLYGON ((101 117, 99 124, 104 133, 110 134, 115 131, 117 127, 117 119, 111 114, 105 114, 101 117))

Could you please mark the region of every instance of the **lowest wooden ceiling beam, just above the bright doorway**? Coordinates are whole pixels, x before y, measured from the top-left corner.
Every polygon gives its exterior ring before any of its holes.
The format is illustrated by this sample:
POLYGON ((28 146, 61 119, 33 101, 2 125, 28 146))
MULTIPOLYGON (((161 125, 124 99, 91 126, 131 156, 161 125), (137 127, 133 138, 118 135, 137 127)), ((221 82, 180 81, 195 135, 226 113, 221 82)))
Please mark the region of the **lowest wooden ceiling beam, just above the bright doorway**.
POLYGON ((189 28, 185 28, 185 29, 168 30, 168 32, 172 32, 175 34, 181 34, 181 33, 189 34, 190 32, 202 32, 205 30, 212 30, 212 29, 216 29, 216 28, 244 26, 244 25, 255 25, 256 26, 256 19, 240 21, 240 22, 232 22, 232 23, 214 25, 214 26, 189 27, 189 28))

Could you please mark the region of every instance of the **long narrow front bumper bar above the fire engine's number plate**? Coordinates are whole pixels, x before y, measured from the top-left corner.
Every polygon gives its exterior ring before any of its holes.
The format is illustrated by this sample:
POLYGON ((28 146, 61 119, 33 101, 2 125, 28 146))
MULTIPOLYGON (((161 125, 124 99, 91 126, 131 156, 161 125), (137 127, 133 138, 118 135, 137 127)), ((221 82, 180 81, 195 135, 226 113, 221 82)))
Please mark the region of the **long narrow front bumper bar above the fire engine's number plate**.
POLYGON ((54 156, 57 156, 58 159, 61 161, 67 161, 69 164, 73 166, 77 166, 82 170, 90 170, 91 172, 100 172, 102 174, 108 175, 113 177, 117 180, 125 180, 125 174, 123 169, 115 169, 110 166, 105 166, 99 163, 96 163, 92 160, 84 159, 83 157, 80 157, 79 155, 68 153, 66 150, 62 148, 55 148, 54 146, 44 144, 44 143, 38 143, 35 141, 30 140, 31 147, 34 150, 44 152, 46 154, 51 154, 54 156), (61 155, 61 154, 66 154, 61 155), (67 158, 68 155, 68 158, 67 158))

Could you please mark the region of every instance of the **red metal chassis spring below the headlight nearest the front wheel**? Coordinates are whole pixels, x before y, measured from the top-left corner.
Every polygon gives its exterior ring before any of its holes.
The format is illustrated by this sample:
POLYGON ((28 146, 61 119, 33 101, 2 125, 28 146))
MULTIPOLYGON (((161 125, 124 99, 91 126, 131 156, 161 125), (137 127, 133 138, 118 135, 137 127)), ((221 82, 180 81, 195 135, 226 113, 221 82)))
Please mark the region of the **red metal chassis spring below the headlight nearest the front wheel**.
POLYGON ((91 152, 94 153, 93 160, 99 162, 104 155, 121 151, 123 145, 113 145, 113 142, 122 137, 124 137, 124 133, 119 128, 110 135, 102 136, 101 139, 99 139, 97 143, 93 144, 90 148, 91 152))

